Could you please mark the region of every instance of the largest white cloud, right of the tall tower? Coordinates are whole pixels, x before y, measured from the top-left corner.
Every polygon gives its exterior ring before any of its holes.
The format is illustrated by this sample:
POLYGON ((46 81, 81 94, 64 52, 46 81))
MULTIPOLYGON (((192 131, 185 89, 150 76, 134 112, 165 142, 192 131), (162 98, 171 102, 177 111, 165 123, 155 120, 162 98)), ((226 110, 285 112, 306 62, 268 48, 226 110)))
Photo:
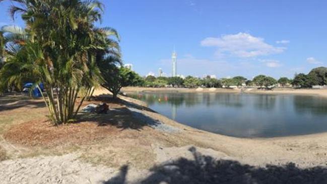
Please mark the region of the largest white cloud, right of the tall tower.
POLYGON ((236 57, 256 57, 282 53, 285 47, 269 45, 263 38, 248 33, 209 37, 201 41, 202 46, 217 47, 216 55, 230 54, 236 57))

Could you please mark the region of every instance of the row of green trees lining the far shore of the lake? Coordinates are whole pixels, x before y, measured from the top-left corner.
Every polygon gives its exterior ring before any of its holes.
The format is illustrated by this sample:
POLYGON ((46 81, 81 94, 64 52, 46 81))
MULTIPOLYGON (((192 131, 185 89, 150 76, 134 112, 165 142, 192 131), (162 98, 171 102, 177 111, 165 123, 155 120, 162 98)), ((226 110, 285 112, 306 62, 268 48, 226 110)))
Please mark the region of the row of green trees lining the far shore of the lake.
POLYGON ((187 76, 181 77, 155 77, 149 75, 141 77, 137 73, 138 80, 135 80, 132 86, 144 87, 258 87, 258 88, 273 88, 294 87, 294 88, 311 88, 313 85, 327 85, 327 68, 318 67, 312 69, 308 74, 295 74, 294 78, 280 77, 278 80, 271 76, 257 75, 252 79, 247 79, 243 76, 235 76, 232 78, 212 78, 206 76, 204 78, 187 76))

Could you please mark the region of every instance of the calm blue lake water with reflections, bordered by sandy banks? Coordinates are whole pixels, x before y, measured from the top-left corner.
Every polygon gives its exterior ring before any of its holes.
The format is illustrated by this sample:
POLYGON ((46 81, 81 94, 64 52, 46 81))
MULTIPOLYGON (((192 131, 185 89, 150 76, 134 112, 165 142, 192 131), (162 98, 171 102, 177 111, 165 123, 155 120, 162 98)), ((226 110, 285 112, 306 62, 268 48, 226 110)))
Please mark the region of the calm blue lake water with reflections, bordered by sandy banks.
POLYGON ((234 137, 327 131, 327 99, 295 95, 138 93, 130 97, 179 123, 234 137))

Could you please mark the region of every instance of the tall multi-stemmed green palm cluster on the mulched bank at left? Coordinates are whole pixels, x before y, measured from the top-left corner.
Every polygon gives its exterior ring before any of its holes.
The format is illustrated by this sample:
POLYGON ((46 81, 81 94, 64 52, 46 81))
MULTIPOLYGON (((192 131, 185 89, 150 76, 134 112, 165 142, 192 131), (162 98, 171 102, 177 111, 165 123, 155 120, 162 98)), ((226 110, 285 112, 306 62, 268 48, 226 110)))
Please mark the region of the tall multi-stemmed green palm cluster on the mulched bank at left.
POLYGON ((95 26, 103 5, 92 0, 12 2, 12 18, 21 14, 26 27, 4 27, 0 33, 0 44, 8 51, 0 70, 1 86, 20 88, 32 81, 40 89, 43 83, 51 122, 74 121, 92 88, 103 81, 99 63, 120 63, 117 32, 95 26))

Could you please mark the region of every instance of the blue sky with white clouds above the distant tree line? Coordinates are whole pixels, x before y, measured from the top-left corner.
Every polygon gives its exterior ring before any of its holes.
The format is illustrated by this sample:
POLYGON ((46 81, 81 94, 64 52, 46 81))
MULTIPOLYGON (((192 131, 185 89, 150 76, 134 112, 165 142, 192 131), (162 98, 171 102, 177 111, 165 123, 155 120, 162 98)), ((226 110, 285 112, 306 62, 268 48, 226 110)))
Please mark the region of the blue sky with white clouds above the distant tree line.
MULTIPOLYGON (((327 63, 327 2, 295 0, 102 1, 103 22, 118 30, 125 63, 142 75, 293 77, 327 63)), ((10 3, 0 3, 0 26, 10 3)))

